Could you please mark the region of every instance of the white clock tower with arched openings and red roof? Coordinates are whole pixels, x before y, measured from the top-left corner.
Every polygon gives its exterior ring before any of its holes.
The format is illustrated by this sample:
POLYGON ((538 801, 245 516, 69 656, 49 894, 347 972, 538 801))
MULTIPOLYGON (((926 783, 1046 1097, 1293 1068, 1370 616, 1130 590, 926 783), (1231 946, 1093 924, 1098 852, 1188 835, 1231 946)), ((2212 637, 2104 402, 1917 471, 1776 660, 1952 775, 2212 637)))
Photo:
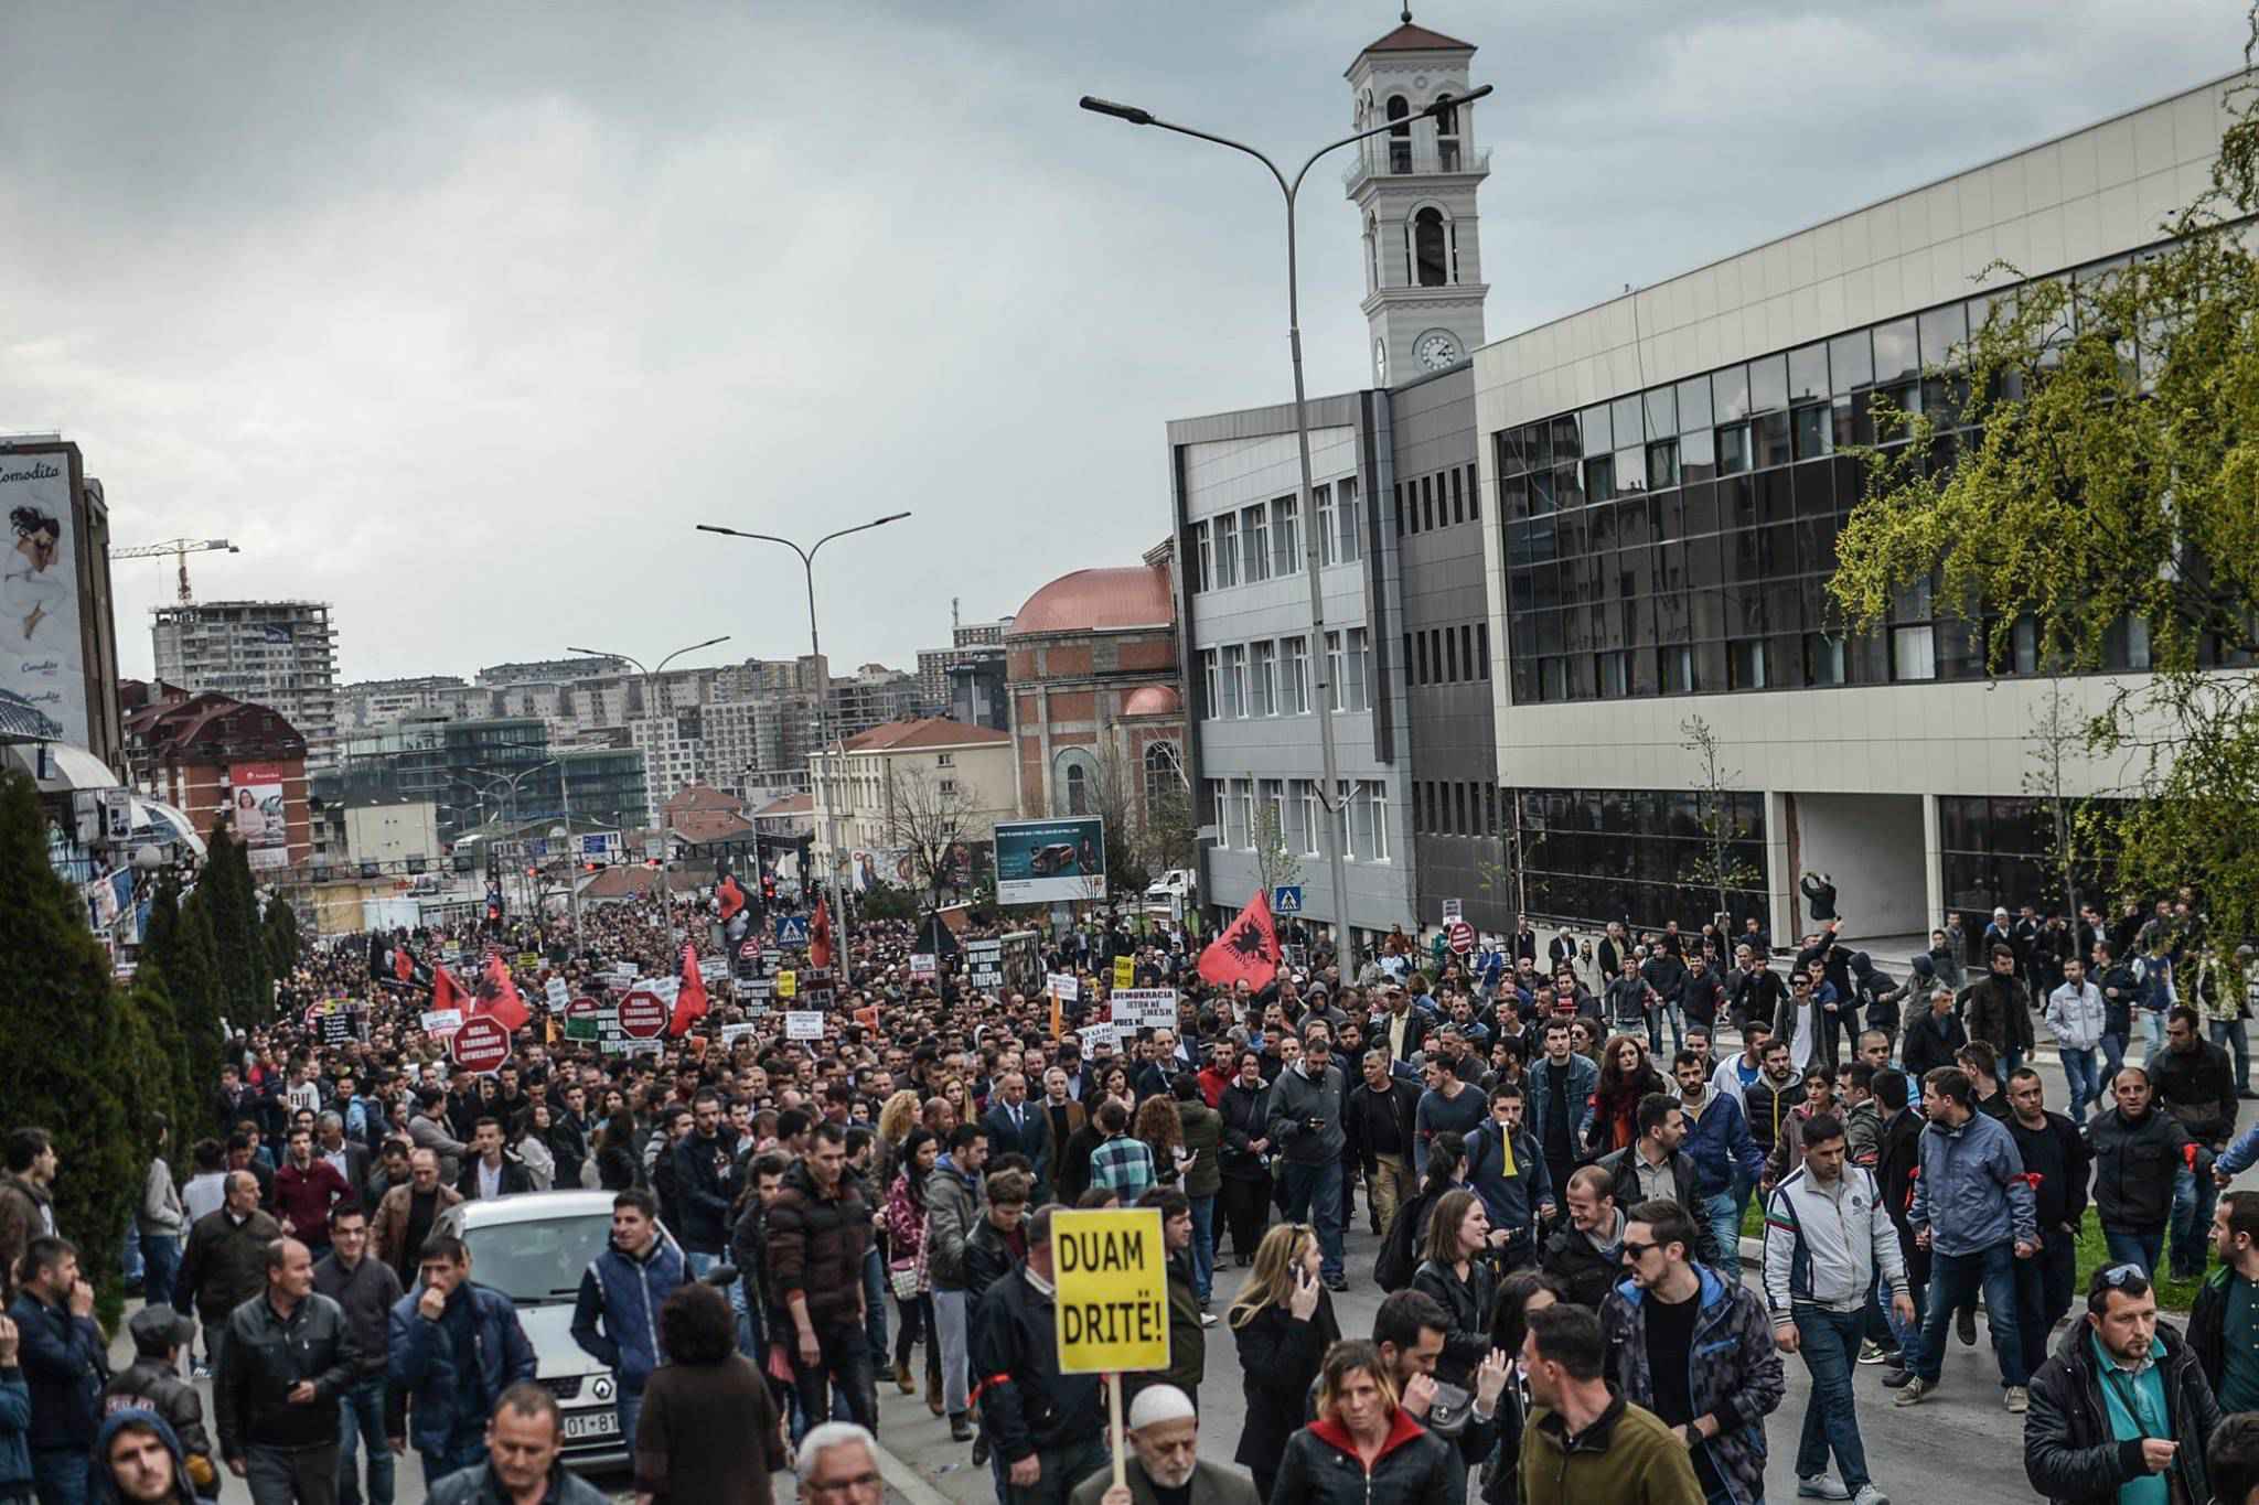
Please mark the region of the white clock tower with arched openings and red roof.
POLYGON ((1482 237, 1475 192, 1491 174, 1475 149, 1475 108, 1412 120, 1444 97, 1464 97, 1475 47, 1403 25, 1349 65, 1358 129, 1394 131, 1358 142, 1349 199, 1364 235, 1364 320, 1373 384, 1394 386, 1464 361, 1482 343, 1482 237))

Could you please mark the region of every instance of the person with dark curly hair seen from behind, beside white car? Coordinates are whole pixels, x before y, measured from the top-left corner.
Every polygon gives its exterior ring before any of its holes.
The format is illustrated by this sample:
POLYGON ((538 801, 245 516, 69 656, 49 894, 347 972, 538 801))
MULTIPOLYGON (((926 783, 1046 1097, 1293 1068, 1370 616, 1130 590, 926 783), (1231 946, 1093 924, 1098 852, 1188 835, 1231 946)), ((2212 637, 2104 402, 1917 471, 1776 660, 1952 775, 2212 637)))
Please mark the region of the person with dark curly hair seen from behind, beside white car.
POLYGON ((736 1352, 730 1300, 705 1282, 660 1304, 666 1363, 635 1422, 635 1491, 653 1505, 770 1505, 784 1426, 768 1379, 736 1352))

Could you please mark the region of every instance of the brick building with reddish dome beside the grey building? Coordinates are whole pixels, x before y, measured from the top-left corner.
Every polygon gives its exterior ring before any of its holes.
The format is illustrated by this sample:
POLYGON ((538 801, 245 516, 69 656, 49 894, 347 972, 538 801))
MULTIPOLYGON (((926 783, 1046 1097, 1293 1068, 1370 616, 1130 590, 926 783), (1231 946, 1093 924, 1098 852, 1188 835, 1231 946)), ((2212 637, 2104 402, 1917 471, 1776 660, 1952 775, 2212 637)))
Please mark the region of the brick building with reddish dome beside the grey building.
MULTIPOLYGON (((1059 575, 1003 634, 1019 812, 1143 826, 1184 794, 1172 546, 1143 564, 1059 575)), ((1107 830, 1114 837, 1114 830, 1107 830)))

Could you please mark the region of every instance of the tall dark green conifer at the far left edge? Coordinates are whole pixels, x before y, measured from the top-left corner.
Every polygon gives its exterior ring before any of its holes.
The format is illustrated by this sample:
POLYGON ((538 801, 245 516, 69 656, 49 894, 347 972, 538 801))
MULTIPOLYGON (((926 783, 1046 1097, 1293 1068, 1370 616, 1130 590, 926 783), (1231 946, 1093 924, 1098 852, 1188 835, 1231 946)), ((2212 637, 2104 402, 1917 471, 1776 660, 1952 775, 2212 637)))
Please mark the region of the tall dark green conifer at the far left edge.
POLYGON ((138 1148, 147 1119, 129 1117, 122 1090, 149 1063, 127 1049, 108 957, 86 927, 86 905, 47 866, 38 794, 14 772, 0 776, 0 914, 5 1121, 54 1135, 56 1227, 79 1246, 90 1279, 113 1284, 147 1164, 138 1148))

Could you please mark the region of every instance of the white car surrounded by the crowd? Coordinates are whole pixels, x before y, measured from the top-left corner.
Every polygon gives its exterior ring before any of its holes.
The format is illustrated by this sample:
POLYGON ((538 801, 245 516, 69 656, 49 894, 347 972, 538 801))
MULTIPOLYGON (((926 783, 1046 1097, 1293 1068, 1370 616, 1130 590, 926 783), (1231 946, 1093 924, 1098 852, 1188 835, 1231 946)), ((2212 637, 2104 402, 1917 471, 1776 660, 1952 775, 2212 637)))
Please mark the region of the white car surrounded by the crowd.
POLYGON ((456 1203, 431 1232, 461 1239, 470 1248, 470 1277, 515 1302, 533 1343, 533 1376, 565 1412, 565 1464, 628 1467, 617 1381, 572 1340, 581 1275, 612 1241, 612 1194, 529 1191, 456 1203))

